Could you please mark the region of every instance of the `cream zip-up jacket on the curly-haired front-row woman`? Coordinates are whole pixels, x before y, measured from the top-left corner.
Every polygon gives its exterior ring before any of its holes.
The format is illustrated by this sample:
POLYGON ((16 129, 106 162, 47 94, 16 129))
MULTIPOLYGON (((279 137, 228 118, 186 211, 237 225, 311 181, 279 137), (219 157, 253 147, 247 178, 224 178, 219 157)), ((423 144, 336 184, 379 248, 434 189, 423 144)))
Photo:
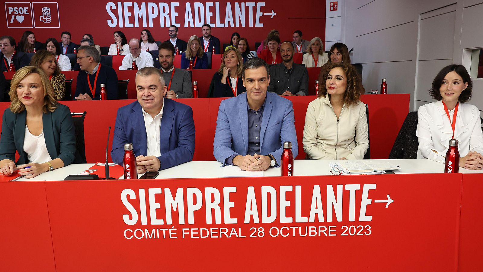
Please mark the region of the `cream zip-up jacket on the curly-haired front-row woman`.
POLYGON ((369 148, 366 107, 342 106, 337 119, 327 96, 309 103, 303 130, 303 149, 311 159, 359 160, 369 148))

